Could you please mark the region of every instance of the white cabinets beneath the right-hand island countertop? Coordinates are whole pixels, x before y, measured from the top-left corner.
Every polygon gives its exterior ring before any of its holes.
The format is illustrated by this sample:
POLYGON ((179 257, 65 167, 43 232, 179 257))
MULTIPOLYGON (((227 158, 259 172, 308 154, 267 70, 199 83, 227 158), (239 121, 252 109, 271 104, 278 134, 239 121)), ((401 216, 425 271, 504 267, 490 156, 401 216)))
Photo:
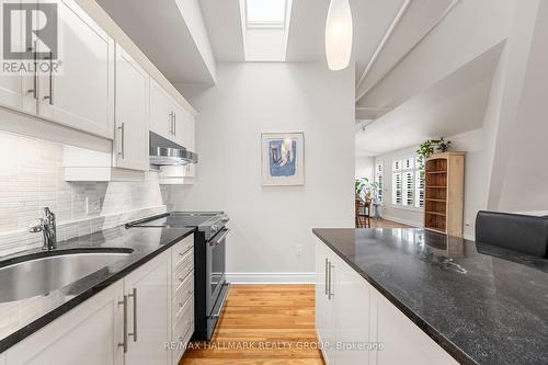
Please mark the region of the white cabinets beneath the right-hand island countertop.
POLYGON ((457 364, 320 240, 316 278, 316 328, 328 365, 457 364))

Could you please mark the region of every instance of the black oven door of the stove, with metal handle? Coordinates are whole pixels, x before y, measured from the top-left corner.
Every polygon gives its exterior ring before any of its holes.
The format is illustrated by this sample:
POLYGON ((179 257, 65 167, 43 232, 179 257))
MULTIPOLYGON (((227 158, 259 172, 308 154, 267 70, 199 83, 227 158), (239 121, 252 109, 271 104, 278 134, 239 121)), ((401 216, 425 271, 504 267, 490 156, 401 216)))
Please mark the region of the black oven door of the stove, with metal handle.
POLYGON ((225 284, 226 258, 227 258, 227 235, 228 228, 220 230, 207 244, 207 315, 212 315, 212 310, 219 298, 219 294, 225 284))

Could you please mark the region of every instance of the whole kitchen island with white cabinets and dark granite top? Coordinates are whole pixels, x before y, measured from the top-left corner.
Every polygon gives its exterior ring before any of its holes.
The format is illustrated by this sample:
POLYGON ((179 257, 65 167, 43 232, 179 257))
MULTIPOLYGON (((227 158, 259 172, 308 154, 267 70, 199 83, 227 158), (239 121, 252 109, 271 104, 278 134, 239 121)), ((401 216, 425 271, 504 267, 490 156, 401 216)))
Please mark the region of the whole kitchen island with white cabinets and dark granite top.
POLYGON ((548 261, 424 229, 313 233, 329 364, 548 363, 548 261))

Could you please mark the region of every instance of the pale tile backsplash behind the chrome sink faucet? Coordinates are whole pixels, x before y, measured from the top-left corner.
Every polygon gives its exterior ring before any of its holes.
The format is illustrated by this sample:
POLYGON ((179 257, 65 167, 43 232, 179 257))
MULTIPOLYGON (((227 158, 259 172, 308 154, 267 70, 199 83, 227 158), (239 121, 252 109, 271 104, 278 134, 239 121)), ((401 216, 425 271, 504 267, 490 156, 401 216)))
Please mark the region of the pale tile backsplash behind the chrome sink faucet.
POLYGON ((42 244, 42 235, 26 229, 45 206, 56 214, 59 241, 165 212, 155 172, 144 182, 62 176, 61 144, 0 133, 0 256, 42 244))

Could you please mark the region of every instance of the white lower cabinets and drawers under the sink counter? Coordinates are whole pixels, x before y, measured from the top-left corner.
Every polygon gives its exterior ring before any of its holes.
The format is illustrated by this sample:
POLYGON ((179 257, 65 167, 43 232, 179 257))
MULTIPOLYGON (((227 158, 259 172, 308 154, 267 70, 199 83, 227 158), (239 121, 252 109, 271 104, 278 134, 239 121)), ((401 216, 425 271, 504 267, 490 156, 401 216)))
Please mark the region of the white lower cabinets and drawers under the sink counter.
POLYGON ((176 364, 194 333, 193 247, 191 235, 8 349, 0 365, 176 364))

